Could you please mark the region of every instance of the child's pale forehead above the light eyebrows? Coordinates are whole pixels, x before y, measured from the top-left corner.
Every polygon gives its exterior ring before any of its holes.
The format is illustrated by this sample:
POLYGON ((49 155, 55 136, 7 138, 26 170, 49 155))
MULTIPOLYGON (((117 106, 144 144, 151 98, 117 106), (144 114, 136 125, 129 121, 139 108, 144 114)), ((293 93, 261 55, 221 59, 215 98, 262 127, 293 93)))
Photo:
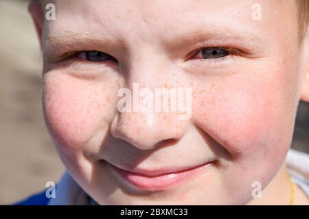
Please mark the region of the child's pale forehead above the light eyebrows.
MULTIPOLYGON (((50 1, 49 1, 50 2, 50 1)), ((67 0, 52 1, 56 21, 45 22, 45 35, 67 32, 106 34, 126 40, 155 41, 201 29, 227 34, 251 34, 261 38, 296 31, 297 16, 293 0, 67 0), (260 5, 262 19, 253 13, 260 5)))

